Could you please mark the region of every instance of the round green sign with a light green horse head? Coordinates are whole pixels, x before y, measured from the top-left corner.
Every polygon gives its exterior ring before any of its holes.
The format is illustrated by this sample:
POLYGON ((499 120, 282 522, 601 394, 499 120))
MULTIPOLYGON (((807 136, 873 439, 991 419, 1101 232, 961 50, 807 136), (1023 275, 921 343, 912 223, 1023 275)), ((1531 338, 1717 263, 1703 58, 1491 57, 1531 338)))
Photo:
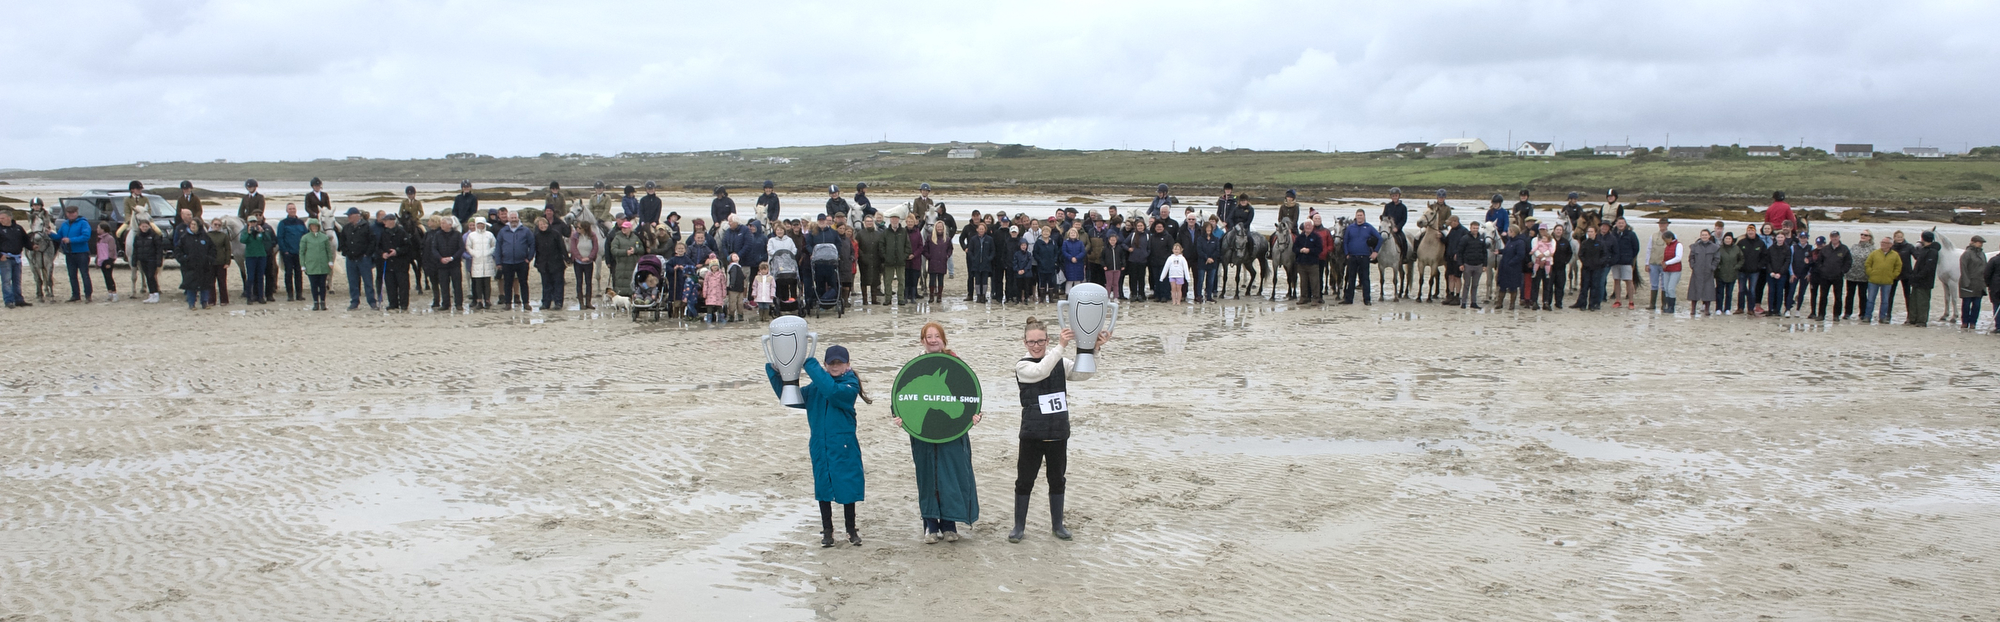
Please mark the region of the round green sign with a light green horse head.
POLYGON ((980 414, 980 376, 958 356, 938 352, 912 358, 896 372, 894 386, 890 412, 918 440, 958 440, 972 430, 972 416, 980 414))

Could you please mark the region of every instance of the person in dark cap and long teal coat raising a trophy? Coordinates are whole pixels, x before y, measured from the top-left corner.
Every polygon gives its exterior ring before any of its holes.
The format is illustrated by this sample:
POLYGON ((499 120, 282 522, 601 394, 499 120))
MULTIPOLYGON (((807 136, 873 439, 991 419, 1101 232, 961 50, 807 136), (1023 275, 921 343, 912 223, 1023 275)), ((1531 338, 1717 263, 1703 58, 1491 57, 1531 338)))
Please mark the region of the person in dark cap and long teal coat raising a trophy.
MULTIPOLYGON (((770 390, 784 394, 778 368, 764 364, 770 390)), ((862 392, 862 380, 848 366, 848 348, 826 348, 826 366, 818 358, 806 358, 806 376, 812 384, 800 388, 806 396, 806 424, 812 426, 812 498, 820 502, 820 546, 834 546, 834 504, 848 524, 848 544, 862 546, 862 532, 854 528, 854 504, 862 500, 866 482, 862 480, 862 446, 854 440, 854 398, 862 392)))

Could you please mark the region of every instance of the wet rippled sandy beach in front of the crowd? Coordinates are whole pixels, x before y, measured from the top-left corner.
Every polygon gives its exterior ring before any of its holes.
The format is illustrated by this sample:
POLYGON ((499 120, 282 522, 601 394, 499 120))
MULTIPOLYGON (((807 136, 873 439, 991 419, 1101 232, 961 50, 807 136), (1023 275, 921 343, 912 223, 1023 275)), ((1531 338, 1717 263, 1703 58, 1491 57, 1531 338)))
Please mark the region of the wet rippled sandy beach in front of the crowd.
MULTIPOLYGON (((938 320, 1010 404, 1054 304, 962 286, 812 326, 886 386, 938 320)), ((758 322, 174 294, 0 316, 0 620, 2000 620, 2000 338, 1944 322, 1130 304, 1074 542, 1046 488, 1004 540, 996 406, 982 520, 922 544, 878 400, 822 550, 758 322)))

